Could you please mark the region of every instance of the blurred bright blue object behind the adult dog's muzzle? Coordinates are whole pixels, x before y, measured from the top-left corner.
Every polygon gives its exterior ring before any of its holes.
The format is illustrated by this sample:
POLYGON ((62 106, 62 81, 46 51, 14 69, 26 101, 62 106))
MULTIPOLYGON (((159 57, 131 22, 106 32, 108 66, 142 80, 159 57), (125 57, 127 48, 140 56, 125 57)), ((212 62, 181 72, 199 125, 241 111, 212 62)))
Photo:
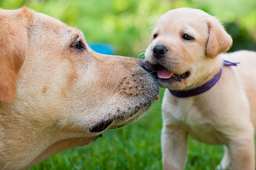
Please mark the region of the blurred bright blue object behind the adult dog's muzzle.
POLYGON ((93 49, 95 52, 107 55, 113 55, 115 53, 115 47, 111 44, 106 43, 88 43, 88 45, 93 49))

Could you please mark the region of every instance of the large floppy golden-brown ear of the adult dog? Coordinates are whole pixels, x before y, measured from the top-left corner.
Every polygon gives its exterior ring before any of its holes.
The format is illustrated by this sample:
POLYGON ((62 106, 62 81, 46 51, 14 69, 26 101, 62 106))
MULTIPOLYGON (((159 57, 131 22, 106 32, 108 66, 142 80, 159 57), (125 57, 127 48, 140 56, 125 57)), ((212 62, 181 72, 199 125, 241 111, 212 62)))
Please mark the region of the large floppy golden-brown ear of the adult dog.
POLYGON ((0 9, 0 101, 4 103, 15 98, 18 74, 27 55, 32 17, 32 10, 26 7, 0 9))

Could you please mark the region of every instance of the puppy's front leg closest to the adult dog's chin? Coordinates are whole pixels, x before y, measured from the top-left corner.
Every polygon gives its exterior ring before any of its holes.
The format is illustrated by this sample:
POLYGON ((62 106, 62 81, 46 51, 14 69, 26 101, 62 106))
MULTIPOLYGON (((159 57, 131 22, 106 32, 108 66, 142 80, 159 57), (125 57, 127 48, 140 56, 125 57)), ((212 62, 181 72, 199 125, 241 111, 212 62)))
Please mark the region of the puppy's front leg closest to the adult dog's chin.
POLYGON ((163 169, 184 169, 187 152, 187 132, 179 126, 164 125, 161 144, 163 169))

